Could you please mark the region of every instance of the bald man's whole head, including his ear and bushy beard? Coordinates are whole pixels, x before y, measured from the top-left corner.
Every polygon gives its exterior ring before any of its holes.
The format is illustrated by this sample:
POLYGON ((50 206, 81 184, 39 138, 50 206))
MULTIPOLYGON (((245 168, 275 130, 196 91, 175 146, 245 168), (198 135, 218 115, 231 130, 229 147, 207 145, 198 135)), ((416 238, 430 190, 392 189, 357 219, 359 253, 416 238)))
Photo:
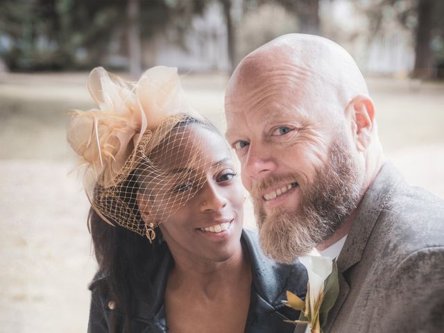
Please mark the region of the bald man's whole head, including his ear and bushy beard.
POLYGON ((313 35, 268 42, 234 71, 225 114, 266 253, 288 262, 334 237, 382 154, 373 102, 347 51, 313 35))

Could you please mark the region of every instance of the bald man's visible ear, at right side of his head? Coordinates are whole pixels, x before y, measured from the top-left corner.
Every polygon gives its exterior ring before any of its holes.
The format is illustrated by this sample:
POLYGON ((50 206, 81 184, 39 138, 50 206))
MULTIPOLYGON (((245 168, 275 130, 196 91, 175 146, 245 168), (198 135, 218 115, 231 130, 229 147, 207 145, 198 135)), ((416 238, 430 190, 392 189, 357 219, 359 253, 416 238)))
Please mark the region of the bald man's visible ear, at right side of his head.
POLYGON ((352 136, 358 151, 370 145, 375 128, 375 107, 368 96, 356 96, 348 105, 348 117, 352 136))

